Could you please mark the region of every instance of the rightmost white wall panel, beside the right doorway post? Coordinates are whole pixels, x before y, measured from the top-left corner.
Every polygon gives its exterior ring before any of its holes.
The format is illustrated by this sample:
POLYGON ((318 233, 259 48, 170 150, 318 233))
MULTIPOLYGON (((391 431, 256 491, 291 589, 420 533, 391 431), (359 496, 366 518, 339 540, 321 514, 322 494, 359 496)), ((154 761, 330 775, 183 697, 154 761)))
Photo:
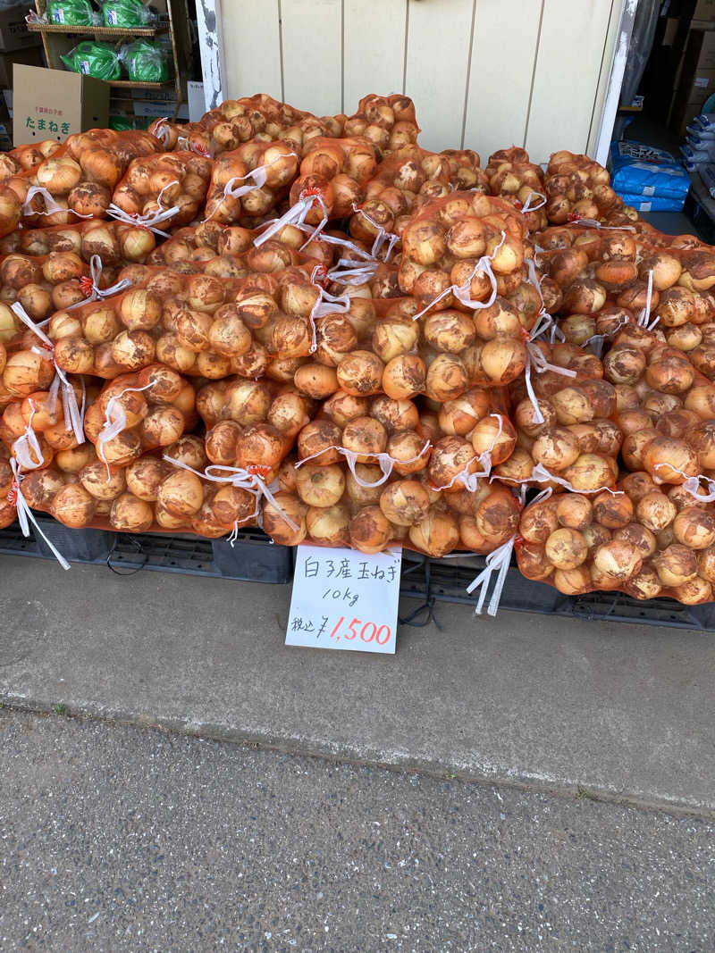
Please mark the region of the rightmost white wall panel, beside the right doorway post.
POLYGON ((588 144, 611 0, 544 0, 526 149, 534 162, 588 144))

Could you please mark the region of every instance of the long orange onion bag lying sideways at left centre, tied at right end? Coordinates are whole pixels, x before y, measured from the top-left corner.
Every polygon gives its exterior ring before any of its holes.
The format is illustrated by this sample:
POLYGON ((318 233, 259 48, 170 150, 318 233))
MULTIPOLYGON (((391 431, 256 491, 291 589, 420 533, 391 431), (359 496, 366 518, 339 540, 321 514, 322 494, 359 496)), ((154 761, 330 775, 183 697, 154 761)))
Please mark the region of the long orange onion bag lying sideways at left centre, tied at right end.
POLYGON ((338 300, 312 280, 310 265, 243 279, 143 265, 121 274, 128 272, 141 285, 52 315, 49 334, 63 371, 113 377, 158 360, 212 380, 292 381, 316 350, 317 318, 350 308, 347 296, 338 300))

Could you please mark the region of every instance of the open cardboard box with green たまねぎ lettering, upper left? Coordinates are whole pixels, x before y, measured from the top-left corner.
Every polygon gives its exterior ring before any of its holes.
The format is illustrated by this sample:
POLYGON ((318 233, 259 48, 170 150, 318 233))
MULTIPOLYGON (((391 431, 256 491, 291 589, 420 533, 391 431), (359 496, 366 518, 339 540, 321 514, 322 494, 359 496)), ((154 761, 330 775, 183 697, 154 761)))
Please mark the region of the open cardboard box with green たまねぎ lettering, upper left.
POLYGON ((16 146, 43 139, 64 142, 72 132, 106 129, 110 87, 79 72, 14 67, 12 131, 16 146))

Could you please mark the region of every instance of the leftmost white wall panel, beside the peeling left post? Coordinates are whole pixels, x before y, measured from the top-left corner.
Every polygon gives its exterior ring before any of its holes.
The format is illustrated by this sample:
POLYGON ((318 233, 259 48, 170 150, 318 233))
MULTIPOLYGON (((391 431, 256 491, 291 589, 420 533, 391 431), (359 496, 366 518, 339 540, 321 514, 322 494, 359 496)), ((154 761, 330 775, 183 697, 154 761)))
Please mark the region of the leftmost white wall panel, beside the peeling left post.
POLYGON ((223 94, 226 99, 267 92, 281 98, 278 0, 223 0, 223 94))

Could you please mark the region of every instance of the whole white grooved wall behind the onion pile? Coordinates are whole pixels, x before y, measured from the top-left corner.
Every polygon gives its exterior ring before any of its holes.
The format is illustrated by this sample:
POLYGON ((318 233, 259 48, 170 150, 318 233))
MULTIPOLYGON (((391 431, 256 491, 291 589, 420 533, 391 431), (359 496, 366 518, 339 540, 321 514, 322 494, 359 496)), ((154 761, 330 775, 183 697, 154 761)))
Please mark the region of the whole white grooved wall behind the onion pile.
POLYGON ((223 95, 415 100, 428 149, 592 152, 620 0, 223 0, 223 95))

